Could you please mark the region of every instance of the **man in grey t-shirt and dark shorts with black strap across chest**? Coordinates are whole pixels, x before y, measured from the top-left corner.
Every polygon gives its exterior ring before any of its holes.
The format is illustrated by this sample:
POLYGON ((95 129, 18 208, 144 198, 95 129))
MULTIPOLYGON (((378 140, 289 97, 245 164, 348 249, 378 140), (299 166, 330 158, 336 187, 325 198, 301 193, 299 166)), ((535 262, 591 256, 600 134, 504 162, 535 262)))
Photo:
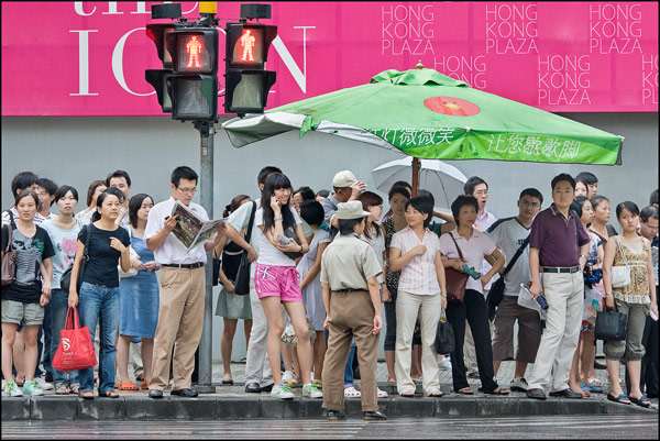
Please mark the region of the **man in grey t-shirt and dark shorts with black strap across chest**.
POLYGON ((495 316, 493 339, 493 371, 497 375, 502 361, 510 360, 514 356, 514 324, 518 320, 516 371, 510 384, 510 389, 514 392, 527 392, 525 370, 527 364, 534 363, 536 360, 536 353, 541 342, 541 333, 543 332, 537 310, 518 304, 520 284, 527 285, 531 280, 529 241, 527 238, 535 216, 541 210, 541 203, 543 203, 543 196, 539 190, 536 188, 524 189, 518 198, 518 216, 501 219, 493 223, 487 231, 493 242, 504 251, 507 266, 509 266, 520 246, 525 244, 522 253, 504 277, 504 296, 495 316))

